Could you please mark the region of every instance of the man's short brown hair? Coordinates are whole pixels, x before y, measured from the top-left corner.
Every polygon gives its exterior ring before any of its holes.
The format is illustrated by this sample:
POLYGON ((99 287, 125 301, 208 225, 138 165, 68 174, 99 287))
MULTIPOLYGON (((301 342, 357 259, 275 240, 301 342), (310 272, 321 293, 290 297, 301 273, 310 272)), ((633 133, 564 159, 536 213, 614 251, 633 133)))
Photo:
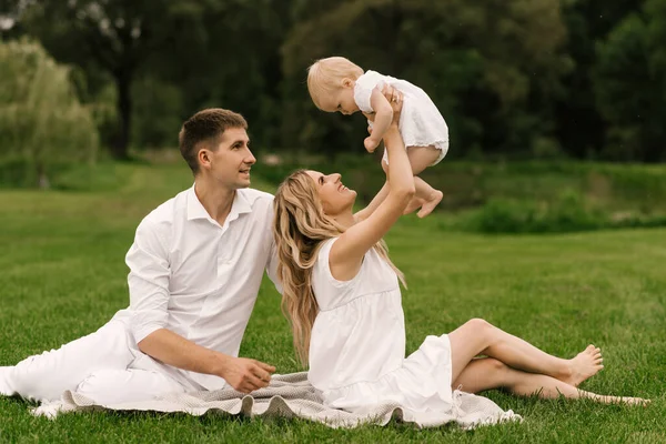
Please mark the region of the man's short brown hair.
POLYGON ((201 145, 205 143, 211 151, 216 150, 220 137, 232 128, 248 130, 248 122, 241 114, 221 108, 199 111, 183 123, 178 140, 181 154, 194 175, 199 173, 198 154, 203 148, 201 145))

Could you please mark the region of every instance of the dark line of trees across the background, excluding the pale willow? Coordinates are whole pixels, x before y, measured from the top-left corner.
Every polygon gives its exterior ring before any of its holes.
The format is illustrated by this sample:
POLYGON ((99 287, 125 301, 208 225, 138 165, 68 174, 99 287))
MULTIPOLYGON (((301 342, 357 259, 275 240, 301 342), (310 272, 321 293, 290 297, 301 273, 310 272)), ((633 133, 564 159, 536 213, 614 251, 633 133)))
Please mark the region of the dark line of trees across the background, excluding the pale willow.
POLYGON ((118 159, 172 147, 205 107, 255 148, 363 152, 365 123, 311 103, 306 68, 345 56, 422 87, 452 157, 666 160, 666 0, 13 0, 2 38, 60 62, 118 159))

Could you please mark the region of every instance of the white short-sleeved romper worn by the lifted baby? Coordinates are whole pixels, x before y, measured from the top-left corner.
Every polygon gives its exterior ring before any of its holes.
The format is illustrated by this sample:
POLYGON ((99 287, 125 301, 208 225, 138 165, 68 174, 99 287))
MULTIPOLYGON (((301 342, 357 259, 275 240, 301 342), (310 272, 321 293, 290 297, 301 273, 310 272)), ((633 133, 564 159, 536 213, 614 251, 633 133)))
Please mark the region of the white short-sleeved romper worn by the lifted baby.
MULTIPOLYGON (((400 133, 407 149, 410 147, 433 145, 441 151, 440 158, 433 163, 438 163, 448 151, 448 127, 431 98, 421 88, 376 71, 365 71, 356 79, 354 85, 354 101, 359 109, 365 113, 373 113, 370 98, 374 88, 382 89, 389 84, 403 93, 403 108, 400 115, 400 133)), ((372 122, 369 121, 372 127, 372 122)), ((387 162, 387 157, 384 154, 387 162)))

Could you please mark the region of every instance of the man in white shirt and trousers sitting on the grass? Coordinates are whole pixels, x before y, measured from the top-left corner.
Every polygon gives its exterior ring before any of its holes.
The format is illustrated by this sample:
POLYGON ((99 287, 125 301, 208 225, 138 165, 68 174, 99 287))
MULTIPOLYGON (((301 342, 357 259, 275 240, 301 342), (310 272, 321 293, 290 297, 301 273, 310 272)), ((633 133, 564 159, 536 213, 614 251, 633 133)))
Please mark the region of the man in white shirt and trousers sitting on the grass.
POLYGON ((183 124, 194 185, 139 224, 127 254, 129 309, 57 351, 0 367, 0 394, 52 401, 71 390, 111 404, 269 384, 273 366, 236 357, 264 269, 275 282, 273 196, 248 189, 255 159, 246 129, 222 109, 183 124))

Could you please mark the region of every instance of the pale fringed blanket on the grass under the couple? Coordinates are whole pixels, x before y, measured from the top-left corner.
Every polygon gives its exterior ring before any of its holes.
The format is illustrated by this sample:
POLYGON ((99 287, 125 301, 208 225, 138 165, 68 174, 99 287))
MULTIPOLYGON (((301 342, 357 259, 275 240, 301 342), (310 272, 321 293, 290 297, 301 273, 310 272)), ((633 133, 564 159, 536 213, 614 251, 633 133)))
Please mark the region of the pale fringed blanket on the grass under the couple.
POLYGON ((271 384, 251 395, 223 389, 213 392, 176 393, 150 401, 97 405, 75 392, 64 392, 56 403, 42 404, 32 411, 38 416, 54 418, 68 412, 82 411, 151 411, 183 412, 200 416, 206 412, 230 415, 300 417, 331 427, 356 427, 363 424, 386 425, 392 420, 413 423, 418 427, 436 427, 456 423, 463 428, 521 421, 512 411, 503 411, 493 401, 461 391, 454 392, 454 406, 448 412, 415 412, 395 403, 373 405, 364 412, 346 412, 326 407, 306 373, 273 375, 271 384))

